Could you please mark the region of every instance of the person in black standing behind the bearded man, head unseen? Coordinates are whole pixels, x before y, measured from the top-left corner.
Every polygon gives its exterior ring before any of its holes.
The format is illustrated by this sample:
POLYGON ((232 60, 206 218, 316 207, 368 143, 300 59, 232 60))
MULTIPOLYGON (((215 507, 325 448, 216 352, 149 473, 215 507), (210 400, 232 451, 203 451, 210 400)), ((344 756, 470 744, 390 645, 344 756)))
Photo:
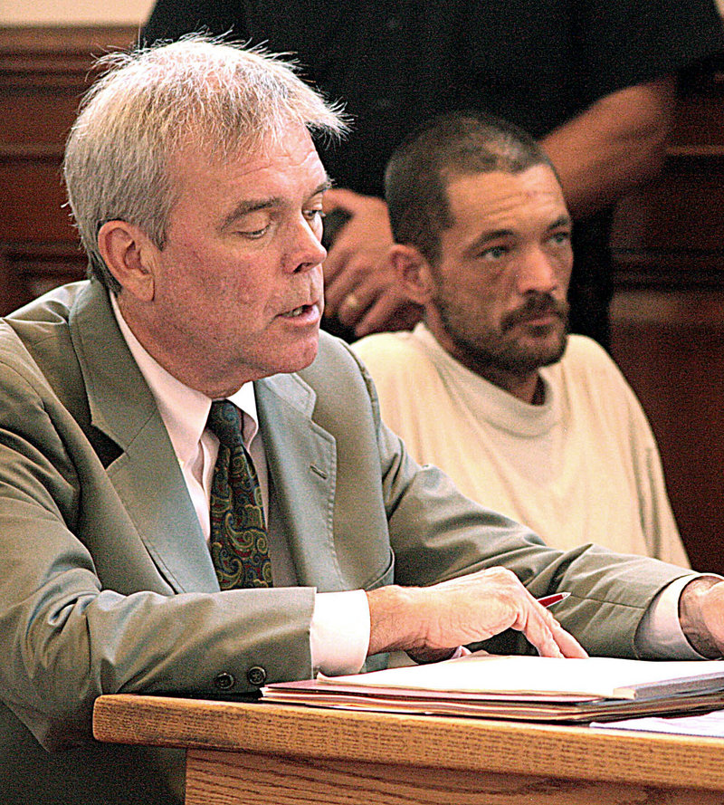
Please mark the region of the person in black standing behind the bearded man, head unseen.
POLYGON ((385 164, 433 115, 486 110, 540 139, 576 220, 574 331, 608 342, 612 207, 662 167, 676 74, 724 50, 713 0, 157 0, 147 42, 207 30, 299 57, 302 74, 354 119, 320 143, 351 218, 324 264, 326 327, 360 337, 420 316, 397 292, 385 164))

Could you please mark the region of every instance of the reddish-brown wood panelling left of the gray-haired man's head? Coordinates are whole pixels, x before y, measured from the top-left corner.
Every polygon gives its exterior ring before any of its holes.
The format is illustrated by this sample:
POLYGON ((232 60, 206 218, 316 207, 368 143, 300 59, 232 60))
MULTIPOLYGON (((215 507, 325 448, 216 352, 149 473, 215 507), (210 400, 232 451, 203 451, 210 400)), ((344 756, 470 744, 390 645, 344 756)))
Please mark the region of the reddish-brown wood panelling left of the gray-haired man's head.
POLYGON ((0 315, 85 273, 63 208, 62 149, 93 78, 93 55, 126 47, 134 35, 0 28, 0 315))

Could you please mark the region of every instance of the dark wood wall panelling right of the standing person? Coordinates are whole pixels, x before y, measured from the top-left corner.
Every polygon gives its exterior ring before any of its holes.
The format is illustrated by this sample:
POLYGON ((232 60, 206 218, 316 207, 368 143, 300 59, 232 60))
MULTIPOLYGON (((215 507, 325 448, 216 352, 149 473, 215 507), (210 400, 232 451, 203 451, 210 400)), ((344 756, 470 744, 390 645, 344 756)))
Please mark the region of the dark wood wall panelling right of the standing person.
POLYGON ((692 565, 724 573, 724 57, 687 76, 662 177, 618 206, 612 352, 692 565))

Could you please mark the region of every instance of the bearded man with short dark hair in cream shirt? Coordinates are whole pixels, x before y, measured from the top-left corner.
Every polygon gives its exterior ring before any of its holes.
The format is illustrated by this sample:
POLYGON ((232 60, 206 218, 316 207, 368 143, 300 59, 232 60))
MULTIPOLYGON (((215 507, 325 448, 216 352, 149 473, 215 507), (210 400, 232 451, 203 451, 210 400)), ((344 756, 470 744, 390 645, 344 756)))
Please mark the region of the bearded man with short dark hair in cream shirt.
POLYGON ((386 198, 413 332, 357 341, 382 416, 421 463, 549 544, 686 564, 651 428, 614 362, 567 336, 571 217, 552 164, 489 116, 433 120, 386 198))

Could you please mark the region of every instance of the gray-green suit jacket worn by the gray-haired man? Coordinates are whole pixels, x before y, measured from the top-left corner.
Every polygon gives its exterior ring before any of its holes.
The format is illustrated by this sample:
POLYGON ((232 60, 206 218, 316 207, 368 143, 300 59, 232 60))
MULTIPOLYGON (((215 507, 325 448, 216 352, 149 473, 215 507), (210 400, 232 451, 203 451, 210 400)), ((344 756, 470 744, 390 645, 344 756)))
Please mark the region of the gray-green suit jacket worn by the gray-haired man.
POLYGON ((0 322, 0 800, 175 801, 177 756, 92 743, 93 701, 214 696, 222 673, 248 694, 260 667, 269 682, 310 676, 315 589, 504 564, 535 595, 573 592, 557 615, 589 651, 632 656, 643 610, 681 575, 592 546, 548 549, 457 494, 380 422, 338 340, 323 335, 309 369, 255 389, 270 527, 300 586, 222 593, 106 292, 76 283, 0 322))

